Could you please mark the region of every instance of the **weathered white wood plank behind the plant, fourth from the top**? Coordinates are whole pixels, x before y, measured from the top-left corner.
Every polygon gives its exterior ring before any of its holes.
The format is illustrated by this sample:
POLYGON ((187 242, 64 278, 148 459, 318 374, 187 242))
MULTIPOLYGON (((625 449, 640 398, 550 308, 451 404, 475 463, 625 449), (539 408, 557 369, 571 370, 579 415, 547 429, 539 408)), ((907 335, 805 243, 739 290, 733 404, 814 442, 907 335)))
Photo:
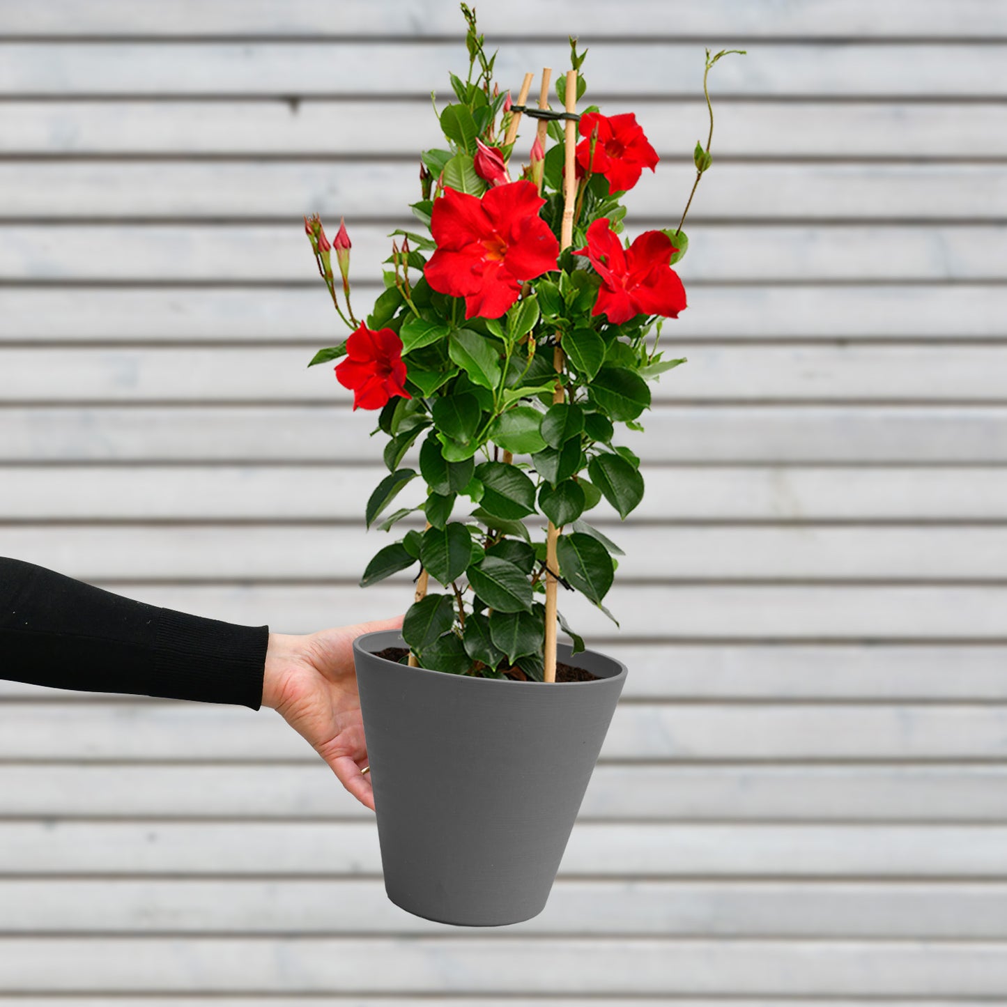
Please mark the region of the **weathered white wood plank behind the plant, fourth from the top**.
MULTIPOLYGON (((792 127, 793 128, 793 127, 792 127)), ((530 143, 530 141, 529 141, 530 143)), ((423 147, 436 146, 436 124, 423 147)), ((516 154, 515 172, 528 143, 516 154)), ((683 145, 685 147, 685 145, 683 145)), ((419 147, 417 147, 417 156, 419 147)), ((639 221, 677 219, 696 169, 678 159, 646 172, 626 194, 631 231, 639 221)), ((698 233, 711 220, 950 222, 1007 219, 1007 172, 987 164, 718 163, 690 218, 698 233), (759 192, 752 199, 752 191, 759 192)), ((399 221, 420 197, 412 163, 31 161, 0 163, 0 217, 399 221)), ((352 227, 352 224, 350 224, 352 227)))

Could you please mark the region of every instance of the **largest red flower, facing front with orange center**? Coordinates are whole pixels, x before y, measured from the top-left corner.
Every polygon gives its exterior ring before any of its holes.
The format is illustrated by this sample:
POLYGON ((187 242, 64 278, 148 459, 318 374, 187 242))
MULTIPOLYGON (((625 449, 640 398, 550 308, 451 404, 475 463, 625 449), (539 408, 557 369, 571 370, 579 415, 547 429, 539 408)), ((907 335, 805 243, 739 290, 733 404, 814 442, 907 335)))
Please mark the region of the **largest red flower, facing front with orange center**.
POLYGON ((498 318, 525 280, 557 268, 560 243, 539 217, 545 202, 527 179, 496 185, 481 199, 445 186, 430 214, 437 251, 424 269, 427 282, 464 297, 466 318, 498 318))

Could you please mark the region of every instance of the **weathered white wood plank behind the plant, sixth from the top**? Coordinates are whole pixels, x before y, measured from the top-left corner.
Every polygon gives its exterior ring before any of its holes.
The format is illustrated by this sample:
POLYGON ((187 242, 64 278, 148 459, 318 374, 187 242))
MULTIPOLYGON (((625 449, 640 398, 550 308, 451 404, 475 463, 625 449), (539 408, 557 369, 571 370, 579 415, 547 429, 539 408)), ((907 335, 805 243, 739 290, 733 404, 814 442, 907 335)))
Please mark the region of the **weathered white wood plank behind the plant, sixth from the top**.
MULTIPOLYGON (((377 278, 377 267, 373 272, 377 278)), ((378 293, 362 283, 357 296, 373 299, 378 293)), ((675 320, 678 341, 1007 338, 1007 285, 693 286, 689 302, 675 320)), ((0 344, 297 340, 307 348, 342 329, 320 286, 0 287, 0 344)))

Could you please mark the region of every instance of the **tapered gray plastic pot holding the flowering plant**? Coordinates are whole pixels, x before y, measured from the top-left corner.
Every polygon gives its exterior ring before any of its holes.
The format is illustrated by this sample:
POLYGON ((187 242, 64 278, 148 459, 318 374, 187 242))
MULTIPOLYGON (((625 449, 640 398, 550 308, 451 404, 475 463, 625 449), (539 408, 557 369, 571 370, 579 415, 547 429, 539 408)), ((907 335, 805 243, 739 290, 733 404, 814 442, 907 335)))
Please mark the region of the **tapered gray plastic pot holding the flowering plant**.
POLYGON ((432 672, 353 641, 385 890, 417 916, 499 926, 546 906, 626 678, 593 651, 559 660, 596 682, 432 672))

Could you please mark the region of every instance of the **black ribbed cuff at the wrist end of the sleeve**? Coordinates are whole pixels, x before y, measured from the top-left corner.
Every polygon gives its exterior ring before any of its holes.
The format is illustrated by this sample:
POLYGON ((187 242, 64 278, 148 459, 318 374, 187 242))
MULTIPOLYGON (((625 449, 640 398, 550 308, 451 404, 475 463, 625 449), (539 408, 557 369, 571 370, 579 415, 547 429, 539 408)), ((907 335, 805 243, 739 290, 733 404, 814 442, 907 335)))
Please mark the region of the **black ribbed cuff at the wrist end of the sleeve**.
POLYGON ((269 626, 241 626, 159 610, 150 695, 258 710, 269 626))

